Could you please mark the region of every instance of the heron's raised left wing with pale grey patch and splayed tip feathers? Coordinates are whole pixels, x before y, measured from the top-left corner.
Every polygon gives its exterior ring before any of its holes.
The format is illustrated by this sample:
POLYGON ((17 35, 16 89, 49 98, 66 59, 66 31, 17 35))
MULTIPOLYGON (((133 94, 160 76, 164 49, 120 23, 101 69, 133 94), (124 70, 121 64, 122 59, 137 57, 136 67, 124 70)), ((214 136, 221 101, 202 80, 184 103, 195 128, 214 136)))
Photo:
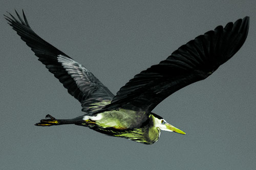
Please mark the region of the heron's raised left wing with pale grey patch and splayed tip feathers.
POLYGON ((31 47, 38 60, 45 64, 68 92, 81 103, 82 111, 92 114, 110 104, 114 95, 92 72, 40 38, 30 28, 24 11, 24 20, 17 12, 16 14, 19 20, 11 14, 11 17, 5 15, 9 25, 31 47))

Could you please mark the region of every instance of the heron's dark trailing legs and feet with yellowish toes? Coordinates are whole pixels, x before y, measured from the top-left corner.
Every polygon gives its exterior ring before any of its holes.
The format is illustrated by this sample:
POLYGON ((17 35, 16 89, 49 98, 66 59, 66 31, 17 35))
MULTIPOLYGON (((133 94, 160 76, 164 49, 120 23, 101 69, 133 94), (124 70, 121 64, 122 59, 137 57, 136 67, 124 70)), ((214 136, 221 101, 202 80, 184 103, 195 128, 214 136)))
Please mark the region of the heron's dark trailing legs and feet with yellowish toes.
POLYGON ((46 119, 41 119, 35 126, 53 126, 53 125, 65 125, 65 124, 78 124, 82 118, 77 117, 74 119, 56 119, 53 116, 47 114, 46 119))

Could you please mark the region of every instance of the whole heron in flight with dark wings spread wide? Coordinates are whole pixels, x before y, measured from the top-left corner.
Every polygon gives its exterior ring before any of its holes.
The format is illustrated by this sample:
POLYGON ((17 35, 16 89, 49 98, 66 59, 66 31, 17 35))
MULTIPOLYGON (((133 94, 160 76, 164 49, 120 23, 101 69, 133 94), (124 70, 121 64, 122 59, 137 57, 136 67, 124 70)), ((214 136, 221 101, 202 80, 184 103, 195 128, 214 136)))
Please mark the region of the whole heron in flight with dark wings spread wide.
POLYGON ((9 25, 31 47, 38 60, 77 99, 84 114, 73 119, 46 115, 36 126, 74 124, 144 144, 158 141, 160 131, 185 134, 152 110, 175 91, 210 76, 244 44, 249 17, 190 40, 159 64, 135 75, 114 95, 86 67, 40 38, 15 10, 5 15, 9 25))

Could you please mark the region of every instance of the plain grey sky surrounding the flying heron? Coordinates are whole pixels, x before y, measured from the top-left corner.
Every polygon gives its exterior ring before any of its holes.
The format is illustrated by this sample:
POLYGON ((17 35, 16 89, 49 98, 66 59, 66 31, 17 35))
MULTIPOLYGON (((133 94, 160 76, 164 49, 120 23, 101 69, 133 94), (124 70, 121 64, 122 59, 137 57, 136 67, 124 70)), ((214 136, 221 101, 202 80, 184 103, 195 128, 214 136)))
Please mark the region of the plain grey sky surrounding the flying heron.
POLYGON ((89 68, 116 93, 134 75, 196 36, 250 16, 241 50, 212 76, 169 96, 153 112, 187 135, 162 132, 144 145, 74 125, 35 127, 81 106, 1 22, 0 169, 254 169, 255 1, 1 1, 24 9, 32 29, 89 68))

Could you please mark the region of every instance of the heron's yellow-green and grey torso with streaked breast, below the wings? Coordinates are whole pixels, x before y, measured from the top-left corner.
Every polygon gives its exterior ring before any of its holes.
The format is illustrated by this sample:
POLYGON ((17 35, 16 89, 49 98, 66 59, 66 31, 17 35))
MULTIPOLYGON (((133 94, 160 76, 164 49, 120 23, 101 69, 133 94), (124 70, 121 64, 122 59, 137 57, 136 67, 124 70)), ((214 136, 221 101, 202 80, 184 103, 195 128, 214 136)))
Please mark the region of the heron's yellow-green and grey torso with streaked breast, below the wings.
POLYGON ((156 142, 160 136, 160 129, 154 127, 153 114, 140 117, 137 112, 134 111, 118 110, 110 111, 110 113, 109 111, 99 113, 95 117, 84 116, 83 119, 86 123, 82 123, 82 125, 88 126, 93 130, 145 144, 156 142), (131 116, 123 116, 129 115, 130 113, 131 116), (97 118, 99 118, 99 120, 91 121, 97 118))

